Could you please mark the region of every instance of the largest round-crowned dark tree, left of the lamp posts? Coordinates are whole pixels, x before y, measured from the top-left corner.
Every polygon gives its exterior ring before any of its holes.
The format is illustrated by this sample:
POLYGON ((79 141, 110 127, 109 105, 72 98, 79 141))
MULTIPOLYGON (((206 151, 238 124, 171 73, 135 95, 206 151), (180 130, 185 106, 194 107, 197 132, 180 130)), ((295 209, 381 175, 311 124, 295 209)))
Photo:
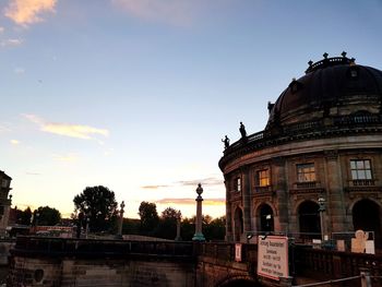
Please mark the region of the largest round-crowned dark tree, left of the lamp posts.
POLYGON ((91 231, 110 229, 117 219, 117 201, 114 191, 106 187, 87 187, 73 199, 74 212, 83 213, 89 218, 91 231))

